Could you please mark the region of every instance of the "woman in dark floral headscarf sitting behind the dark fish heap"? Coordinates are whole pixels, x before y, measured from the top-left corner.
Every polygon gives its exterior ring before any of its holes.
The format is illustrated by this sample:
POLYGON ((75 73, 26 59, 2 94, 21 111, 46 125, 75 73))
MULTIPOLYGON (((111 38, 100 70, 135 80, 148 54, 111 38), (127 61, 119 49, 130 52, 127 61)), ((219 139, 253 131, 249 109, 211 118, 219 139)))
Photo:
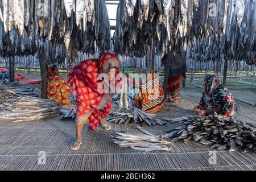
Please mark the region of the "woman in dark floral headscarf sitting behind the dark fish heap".
POLYGON ((205 75, 204 92, 201 101, 193 111, 199 115, 212 114, 214 112, 229 118, 236 118, 237 107, 232 93, 220 84, 217 75, 205 75))

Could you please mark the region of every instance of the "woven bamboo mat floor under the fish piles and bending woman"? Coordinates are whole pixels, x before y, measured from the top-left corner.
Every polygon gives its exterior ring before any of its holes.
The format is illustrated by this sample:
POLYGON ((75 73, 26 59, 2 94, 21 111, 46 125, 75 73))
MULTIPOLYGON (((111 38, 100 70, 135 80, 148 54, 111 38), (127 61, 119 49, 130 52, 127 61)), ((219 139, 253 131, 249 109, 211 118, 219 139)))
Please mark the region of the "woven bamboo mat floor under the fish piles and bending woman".
MULTIPOLYGON (((162 111, 157 116, 163 118, 193 114, 190 107, 194 102, 193 97, 188 97, 179 105, 169 104, 171 110, 162 111)), ((242 113, 241 117, 246 119, 246 113, 242 113)), ((247 119, 250 120, 250 117, 249 115, 247 119)), ((105 131, 99 126, 94 132, 89 131, 86 125, 80 150, 72 151, 69 145, 73 142, 76 132, 73 119, 1 122, 0 170, 256 170, 256 154, 253 152, 242 154, 215 151, 217 164, 210 164, 209 152, 214 150, 195 142, 173 143, 173 152, 146 153, 115 147, 110 142, 110 134, 116 131, 140 131, 135 125, 110 125, 111 131, 105 131), (44 165, 38 163, 41 159, 40 151, 46 154, 44 165)), ((166 126, 143 125, 143 128, 159 135, 176 126, 168 123, 166 126)))

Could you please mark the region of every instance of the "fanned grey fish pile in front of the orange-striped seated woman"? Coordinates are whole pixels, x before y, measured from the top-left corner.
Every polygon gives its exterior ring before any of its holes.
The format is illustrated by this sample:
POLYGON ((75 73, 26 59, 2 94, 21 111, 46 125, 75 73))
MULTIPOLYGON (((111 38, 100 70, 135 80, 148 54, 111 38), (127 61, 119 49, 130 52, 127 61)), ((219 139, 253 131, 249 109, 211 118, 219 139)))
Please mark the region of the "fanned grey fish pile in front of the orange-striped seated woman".
POLYGON ((147 123, 147 125, 165 125, 166 122, 163 122, 161 119, 158 119, 151 114, 146 113, 145 111, 133 107, 133 110, 117 110, 112 113, 113 117, 107 118, 106 121, 115 122, 121 125, 124 123, 147 123))

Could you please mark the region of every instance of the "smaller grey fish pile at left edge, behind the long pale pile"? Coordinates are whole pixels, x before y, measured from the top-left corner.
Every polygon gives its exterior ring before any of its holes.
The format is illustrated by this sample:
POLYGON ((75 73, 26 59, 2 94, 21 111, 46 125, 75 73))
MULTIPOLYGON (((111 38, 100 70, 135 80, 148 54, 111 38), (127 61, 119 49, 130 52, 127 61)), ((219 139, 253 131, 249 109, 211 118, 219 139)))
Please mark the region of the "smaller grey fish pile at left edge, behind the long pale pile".
POLYGON ((39 90, 36 90, 31 85, 21 85, 21 84, 18 84, 18 82, 12 83, 12 82, 9 82, 8 80, 0 80, 0 98, 13 98, 14 96, 39 97, 39 95, 40 95, 39 90))

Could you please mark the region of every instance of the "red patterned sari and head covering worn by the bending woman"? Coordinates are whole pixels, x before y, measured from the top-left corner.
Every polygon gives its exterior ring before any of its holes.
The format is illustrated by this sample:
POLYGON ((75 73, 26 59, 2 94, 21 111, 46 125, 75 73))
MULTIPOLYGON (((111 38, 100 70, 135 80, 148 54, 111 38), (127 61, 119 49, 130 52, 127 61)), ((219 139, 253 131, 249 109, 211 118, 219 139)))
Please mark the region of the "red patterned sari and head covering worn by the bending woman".
MULTIPOLYGON (((97 80, 100 73, 108 73, 111 68, 120 68, 118 56, 111 52, 105 52, 98 59, 89 59, 76 65, 68 75, 68 84, 72 86, 73 93, 77 98, 76 119, 84 118, 86 114, 93 113, 89 117, 90 128, 96 129, 99 118, 106 117, 107 112, 102 113, 100 110, 106 105, 111 106, 111 97, 106 93, 99 93, 98 86, 101 80, 97 80), (97 111, 98 114, 94 114, 97 111)), ((116 83, 117 84, 117 83, 116 83)))

